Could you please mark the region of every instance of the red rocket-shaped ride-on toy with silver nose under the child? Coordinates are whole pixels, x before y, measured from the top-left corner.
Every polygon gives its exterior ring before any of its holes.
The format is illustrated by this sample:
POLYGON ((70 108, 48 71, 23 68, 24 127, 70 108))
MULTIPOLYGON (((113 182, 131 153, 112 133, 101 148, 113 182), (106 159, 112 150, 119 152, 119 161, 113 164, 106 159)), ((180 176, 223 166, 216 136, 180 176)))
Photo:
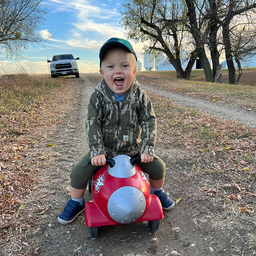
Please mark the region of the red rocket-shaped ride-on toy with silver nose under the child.
POLYGON ((135 164, 138 160, 140 156, 107 158, 89 181, 92 200, 85 204, 85 223, 92 238, 98 236, 98 227, 107 225, 148 221, 151 232, 158 229, 162 205, 156 195, 150 195, 148 179, 135 164))

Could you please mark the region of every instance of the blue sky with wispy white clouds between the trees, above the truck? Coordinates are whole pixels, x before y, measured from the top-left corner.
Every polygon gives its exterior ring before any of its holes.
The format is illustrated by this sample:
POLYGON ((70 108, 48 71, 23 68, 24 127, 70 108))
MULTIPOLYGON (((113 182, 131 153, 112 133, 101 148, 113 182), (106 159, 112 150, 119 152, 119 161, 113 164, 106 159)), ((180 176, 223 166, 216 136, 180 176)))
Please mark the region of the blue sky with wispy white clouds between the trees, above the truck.
MULTIPOLYGON (((51 34, 52 39, 44 46, 37 44, 25 51, 26 60, 18 66, 33 73, 49 73, 47 58, 61 53, 72 53, 79 57, 80 73, 99 72, 99 50, 111 37, 125 38, 124 28, 119 24, 121 19, 117 8, 119 0, 44 0, 49 15, 44 26, 39 30, 43 35, 51 34)), ((126 38, 125 38, 126 39, 126 38)), ((142 43, 130 41, 138 60, 143 63, 142 43)), ((15 61, 7 61, 8 67, 17 68, 15 61)))

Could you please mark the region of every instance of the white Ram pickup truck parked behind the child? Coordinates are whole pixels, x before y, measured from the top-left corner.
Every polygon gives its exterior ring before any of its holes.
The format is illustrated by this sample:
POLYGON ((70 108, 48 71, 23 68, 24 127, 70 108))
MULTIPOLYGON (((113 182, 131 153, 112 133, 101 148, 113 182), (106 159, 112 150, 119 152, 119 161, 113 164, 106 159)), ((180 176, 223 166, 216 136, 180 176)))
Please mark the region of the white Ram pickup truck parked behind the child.
POLYGON ((50 71, 52 77, 57 76, 69 76, 75 75, 76 78, 79 78, 78 65, 76 60, 80 58, 74 58, 72 54, 60 54, 54 55, 51 60, 47 60, 47 62, 51 62, 50 71))

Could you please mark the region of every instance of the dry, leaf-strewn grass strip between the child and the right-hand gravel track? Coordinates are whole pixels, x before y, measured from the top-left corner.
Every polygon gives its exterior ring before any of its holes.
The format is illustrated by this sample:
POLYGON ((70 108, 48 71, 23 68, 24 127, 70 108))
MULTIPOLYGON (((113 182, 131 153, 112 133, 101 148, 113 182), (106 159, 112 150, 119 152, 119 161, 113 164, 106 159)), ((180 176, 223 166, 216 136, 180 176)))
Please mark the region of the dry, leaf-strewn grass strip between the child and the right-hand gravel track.
POLYGON ((256 130, 148 95, 157 116, 160 156, 185 170, 181 178, 196 184, 197 199, 207 199, 203 214, 193 218, 196 227, 237 232, 243 250, 255 249, 256 130))

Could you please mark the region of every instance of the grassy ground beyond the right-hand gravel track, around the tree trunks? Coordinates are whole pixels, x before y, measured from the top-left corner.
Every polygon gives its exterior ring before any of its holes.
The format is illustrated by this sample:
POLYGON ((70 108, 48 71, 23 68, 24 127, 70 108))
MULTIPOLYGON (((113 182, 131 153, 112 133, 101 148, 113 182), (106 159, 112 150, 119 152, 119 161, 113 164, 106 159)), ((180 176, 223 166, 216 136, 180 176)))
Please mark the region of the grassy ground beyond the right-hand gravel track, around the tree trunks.
POLYGON ((157 85, 165 90, 256 110, 256 68, 244 70, 239 85, 228 84, 227 69, 223 69, 223 84, 204 82, 202 69, 192 70, 189 81, 177 79, 173 70, 140 72, 136 77, 143 84, 157 85))

